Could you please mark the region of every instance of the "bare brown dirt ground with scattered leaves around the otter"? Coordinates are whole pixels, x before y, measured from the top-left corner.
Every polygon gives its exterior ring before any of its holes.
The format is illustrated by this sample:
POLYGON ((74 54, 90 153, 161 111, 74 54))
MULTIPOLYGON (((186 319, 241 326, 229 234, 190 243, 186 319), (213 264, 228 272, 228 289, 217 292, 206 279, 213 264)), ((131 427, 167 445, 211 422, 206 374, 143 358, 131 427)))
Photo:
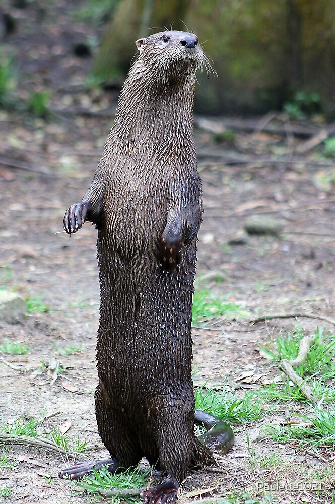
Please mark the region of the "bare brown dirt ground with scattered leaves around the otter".
MULTIPOLYGON (((11 423, 19 416, 38 418, 45 410, 51 418, 43 422, 42 433, 70 422, 69 435, 87 438, 96 447, 95 455, 106 455, 97 434, 93 398, 99 309, 96 231, 85 225, 69 239, 62 232, 62 218, 90 184, 113 120, 117 92, 82 86, 90 59, 74 56, 72 48, 95 35, 94 28, 71 20, 66 2, 41 2, 39 8, 37 3, 28 5, 25 10, 10 7, 17 30, 4 41, 4 50, 16 53, 24 84, 21 96, 29 87, 47 84, 52 89, 53 114, 43 120, 0 110, 0 275, 3 287, 41 299, 49 311, 37 311, 16 324, 0 321, 0 343, 8 337, 30 349, 23 356, 3 355, 5 362, 0 361, 1 416, 11 423), (15 168, 5 158, 44 173, 15 168), (59 353, 59 348, 69 345, 80 346, 80 351, 59 353), (56 380, 51 372, 55 359, 63 367, 56 380)), ((4 8, 8 6, 4 3, 4 8)), ((325 190, 317 183, 325 170, 317 163, 329 160, 321 159, 321 150, 314 150, 292 163, 302 141, 294 135, 239 130, 233 141, 218 143, 213 133, 198 128, 195 139, 204 197, 197 273, 207 275, 214 292, 241 304, 249 314, 214 320, 208 328, 193 330, 195 380, 234 384, 248 370, 270 376, 278 370, 259 355, 260 343, 282 329, 290 330, 292 324, 307 331, 315 331, 318 325, 333 331, 328 322, 305 317, 248 322, 271 313, 312 313, 335 319, 335 196, 331 185, 325 190), (232 156, 248 157, 249 162, 223 162, 232 156), (264 163, 259 158, 275 161, 264 163), (251 215, 271 217, 282 224, 282 230, 278 236, 242 235, 251 215), (215 281, 218 276, 221 282, 215 281)), ((278 414, 285 408, 282 404, 278 414)), ((247 434, 256 427, 257 422, 237 426, 236 445, 222 462, 225 471, 196 473, 187 480, 186 489, 216 487, 215 495, 226 495, 234 487, 247 490, 241 454, 246 453, 247 434)), ((279 446, 267 440, 254 448, 257 453, 278 450, 288 460, 304 464, 306 471, 327 464, 313 454, 301 455, 293 444, 279 446)), ((31 446, 4 449, 9 449, 12 460, 20 456, 16 469, 1 471, 0 484, 12 488, 8 501, 86 501, 84 494, 57 478, 66 464, 59 454, 31 446), (73 492, 76 495, 69 497, 73 492)), ((289 498, 284 492, 278 501, 293 501, 289 498)), ((297 493, 295 501, 328 500, 297 493)))

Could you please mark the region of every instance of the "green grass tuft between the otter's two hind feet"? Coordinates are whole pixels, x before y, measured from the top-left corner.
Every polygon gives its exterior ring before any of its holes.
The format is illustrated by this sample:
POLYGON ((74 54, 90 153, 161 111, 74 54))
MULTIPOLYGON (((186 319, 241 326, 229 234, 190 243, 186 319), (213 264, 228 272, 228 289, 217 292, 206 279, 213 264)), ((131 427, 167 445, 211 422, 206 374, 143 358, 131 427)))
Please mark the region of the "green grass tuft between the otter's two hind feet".
MULTIPOLYGON (((99 494, 99 490, 109 490, 110 488, 117 488, 124 490, 127 488, 143 488, 148 485, 151 469, 143 471, 139 466, 135 469, 127 469, 124 472, 117 474, 110 474, 106 468, 94 471, 91 477, 85 477, 82 481, 76 482, 88 493, 99 494)), ((115 497, 116 502, 119 501, 115 497)), ((138 498, 124 498, 126 502, 137 502, 138 498)))

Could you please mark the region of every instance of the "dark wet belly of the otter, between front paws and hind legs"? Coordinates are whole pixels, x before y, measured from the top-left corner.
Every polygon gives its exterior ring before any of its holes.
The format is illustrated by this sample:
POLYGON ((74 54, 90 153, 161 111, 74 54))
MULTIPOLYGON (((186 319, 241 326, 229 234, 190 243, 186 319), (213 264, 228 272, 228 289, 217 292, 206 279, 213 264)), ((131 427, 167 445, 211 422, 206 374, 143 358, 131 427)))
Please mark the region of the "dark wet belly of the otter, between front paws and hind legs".
POLYGON ((113 396, 132 402, 191 386, 195 243, 172 273, 162 272, 149 250, 129 259, 105 256, 99 257, 99 378, 113 396))

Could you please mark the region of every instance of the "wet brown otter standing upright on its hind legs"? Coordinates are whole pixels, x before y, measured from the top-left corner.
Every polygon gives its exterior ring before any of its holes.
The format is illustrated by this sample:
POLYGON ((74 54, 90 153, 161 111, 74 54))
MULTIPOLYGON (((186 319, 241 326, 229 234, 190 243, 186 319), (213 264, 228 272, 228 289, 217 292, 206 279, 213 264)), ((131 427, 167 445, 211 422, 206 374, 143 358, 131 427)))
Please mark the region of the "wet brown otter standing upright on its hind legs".
MULTIPOLYGON (((191 307, 202 190, 192 109, 195 71, 206 56, 194 33, 137 40, 139 55, 119 98, 114 126, 83 200, 66 211, 69 235, 86 221, 98 230, 101 290, 97 333, 98 431, 110 459, 60 471, 79 479, 142 457, 163 473, 142 496, 174 501, 190 467, 214 462, 194 434, 191 307)), ((223 432, 227 424, 197 413, 223 432)), ((215 436, 216 437, 216 436, 215 436)), ((213 443, 213 436, 204 442, 213 443)), ((215 445, 215 443, 214 443, 215 445)))

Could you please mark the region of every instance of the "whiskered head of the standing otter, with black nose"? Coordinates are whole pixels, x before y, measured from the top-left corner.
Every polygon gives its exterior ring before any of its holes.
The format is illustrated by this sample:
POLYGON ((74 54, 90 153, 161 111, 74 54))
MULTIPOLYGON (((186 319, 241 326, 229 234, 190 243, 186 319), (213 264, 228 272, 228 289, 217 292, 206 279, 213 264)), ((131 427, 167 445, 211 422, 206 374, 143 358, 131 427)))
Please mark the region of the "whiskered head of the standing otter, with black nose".
POLYGON ((140 38, 135 44, 141 64, 165 79, 194 74, 204 61, 195 33, 170 30, 140 38))

